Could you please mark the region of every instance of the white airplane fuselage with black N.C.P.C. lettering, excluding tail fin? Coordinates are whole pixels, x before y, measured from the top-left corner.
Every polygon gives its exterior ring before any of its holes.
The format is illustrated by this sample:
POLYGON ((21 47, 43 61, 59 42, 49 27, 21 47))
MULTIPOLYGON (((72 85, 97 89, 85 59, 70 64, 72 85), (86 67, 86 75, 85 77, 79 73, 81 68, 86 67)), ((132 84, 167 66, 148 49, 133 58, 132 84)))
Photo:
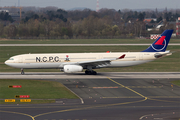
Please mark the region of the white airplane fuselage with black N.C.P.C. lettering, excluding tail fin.
POLYGON ((51 54, 23 54, 11 57, 6 65, 24 69, 62 69, 64 65, 82 61, 118 58, 125 54, 125 58, 111 61, 103 67, 126 67, 138 65, 157 59, 154 55, 163 52, 113 52, 113 53, 51 53, 51 54))

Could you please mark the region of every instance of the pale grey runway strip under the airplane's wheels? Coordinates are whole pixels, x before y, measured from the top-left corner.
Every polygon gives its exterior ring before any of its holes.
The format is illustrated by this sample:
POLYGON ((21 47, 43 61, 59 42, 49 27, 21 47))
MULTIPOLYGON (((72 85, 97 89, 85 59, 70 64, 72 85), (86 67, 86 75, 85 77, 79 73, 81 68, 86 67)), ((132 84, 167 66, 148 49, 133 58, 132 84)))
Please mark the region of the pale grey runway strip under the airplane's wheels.
POLYGON ((85 79, 85 78, 180 78, 180 72, 100 72, 97 75, 85 75, 84 72, 65 74, 63 72, 0 72, 0 79, 85 79))

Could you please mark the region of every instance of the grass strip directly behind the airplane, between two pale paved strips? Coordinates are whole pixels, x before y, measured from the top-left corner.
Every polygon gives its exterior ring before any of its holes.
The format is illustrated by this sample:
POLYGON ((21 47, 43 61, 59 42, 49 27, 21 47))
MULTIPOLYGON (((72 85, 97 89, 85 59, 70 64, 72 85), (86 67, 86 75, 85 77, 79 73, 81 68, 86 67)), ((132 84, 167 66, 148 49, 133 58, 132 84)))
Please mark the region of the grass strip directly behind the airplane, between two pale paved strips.
MULTIPOLYGON (((25 53, 89 53, 89 52, 138 52, 148 46, 73 46, 73 47, 0 47, 0 72, 20 72, 4 64, 9 57, 25 53)), ((125 68, 103 68, 98 72, 180 72, 180 46, 168 46, 168 50, 176 51, 173 55, 146 64, 125 68)), ((29 69, 25 72, 60 72, 58 69, 29 69)))

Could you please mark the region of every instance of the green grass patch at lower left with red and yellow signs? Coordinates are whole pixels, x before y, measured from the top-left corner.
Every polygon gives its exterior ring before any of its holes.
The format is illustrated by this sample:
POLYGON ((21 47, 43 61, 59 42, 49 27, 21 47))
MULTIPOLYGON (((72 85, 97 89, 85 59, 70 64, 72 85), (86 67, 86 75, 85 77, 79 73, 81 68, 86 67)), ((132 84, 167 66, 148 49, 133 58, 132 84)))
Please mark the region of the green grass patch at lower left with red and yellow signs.
MULTIPOLYGON (((42 80, 0 80, 0 99, 15 99, 16 95, 30 95, 31 103, 52 103, 54 99, 76 99, 76 95, 66 89, 61 83, 42 80), (9 85, 21 85, 22 88, 8 88, 9 85), (53 99, 53 100, 47 100, 53 99)), ((5 104, 4 101, 0 101, 5 104)), ((19 99, 15 104, 20 103, 19 99)))

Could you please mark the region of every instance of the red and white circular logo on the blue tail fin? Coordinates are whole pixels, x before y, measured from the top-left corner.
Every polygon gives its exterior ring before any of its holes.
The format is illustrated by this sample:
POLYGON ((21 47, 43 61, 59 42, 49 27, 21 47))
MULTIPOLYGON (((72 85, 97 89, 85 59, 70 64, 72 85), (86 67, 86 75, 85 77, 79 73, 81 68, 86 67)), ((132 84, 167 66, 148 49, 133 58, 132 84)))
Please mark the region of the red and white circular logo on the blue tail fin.
POLYGON ((152 44, 152 48, 156 51, 161 51, 166 47, 166 36, 160 36, 157 41, 152 44))

